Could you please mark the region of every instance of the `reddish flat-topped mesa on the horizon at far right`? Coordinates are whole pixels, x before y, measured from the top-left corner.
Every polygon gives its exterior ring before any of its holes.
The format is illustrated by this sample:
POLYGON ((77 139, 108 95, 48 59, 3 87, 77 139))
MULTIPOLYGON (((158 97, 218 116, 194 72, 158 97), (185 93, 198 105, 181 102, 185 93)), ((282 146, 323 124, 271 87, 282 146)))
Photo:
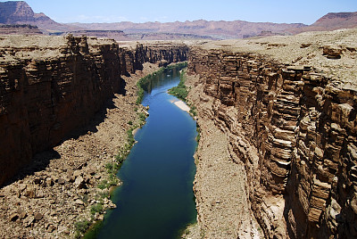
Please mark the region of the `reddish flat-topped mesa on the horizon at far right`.
POLYGON ((329 12, 310 26, 292 29, 294 33, 357 28, 357 12, 329 12))

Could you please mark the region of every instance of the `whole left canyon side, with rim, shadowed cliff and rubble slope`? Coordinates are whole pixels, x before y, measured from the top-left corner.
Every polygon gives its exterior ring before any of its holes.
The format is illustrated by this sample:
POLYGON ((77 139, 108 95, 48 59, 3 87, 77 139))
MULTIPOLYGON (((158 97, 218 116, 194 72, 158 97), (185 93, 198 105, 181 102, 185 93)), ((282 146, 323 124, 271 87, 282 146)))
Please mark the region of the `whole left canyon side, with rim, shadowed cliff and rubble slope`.
POLYGON ((1 37, 0 237, 73 237, 115 207, 107 189, 119 183, 115 156, 145 114, 137 80, 187 60, 187 50, 95 37, 1 37))

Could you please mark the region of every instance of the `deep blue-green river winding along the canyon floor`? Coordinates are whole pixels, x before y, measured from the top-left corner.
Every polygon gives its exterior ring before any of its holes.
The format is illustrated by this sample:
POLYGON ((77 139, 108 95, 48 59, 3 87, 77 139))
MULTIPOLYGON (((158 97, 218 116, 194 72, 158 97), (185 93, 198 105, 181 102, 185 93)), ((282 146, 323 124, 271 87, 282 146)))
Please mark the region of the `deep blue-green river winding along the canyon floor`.
POLYGON ((118 172, 123 181, 112 194, 96 238, 178 238, 196 218, 195 120, 180 110, 167 90, 179 84, 179 70, 154 78, 143 105, 149 117, 118 172))

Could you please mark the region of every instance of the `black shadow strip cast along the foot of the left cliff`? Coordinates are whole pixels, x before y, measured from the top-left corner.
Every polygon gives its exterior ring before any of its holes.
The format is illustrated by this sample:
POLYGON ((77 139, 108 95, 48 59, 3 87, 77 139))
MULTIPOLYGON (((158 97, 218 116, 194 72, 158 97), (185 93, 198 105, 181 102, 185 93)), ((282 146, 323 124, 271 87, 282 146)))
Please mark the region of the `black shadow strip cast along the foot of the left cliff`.
MULTIPOLYGON (((124 80, 123 80, 124 81, 124 80)), ((119 92, 116 92, 116 94, 119 95, 126 95, 126 90, 125 90, 125 82, 122 83, 124 87, 120 89, 119 92)), ((116 96, 112 95, 112 98, 107 100, 104 105, 101 107, 99 111, 95 112, 95 115, 91 117, 85 126, 81 126, 79 128, 75 128, 74 130, 71 131, 70 134, 65 136, 61 142, 58 144, 54 145, 60 145, 64 141, 69 140, 69 139, 79 139, 80 136, 85 136, 90 133, 95 133, 98 131, 97 126, 104 122, 104 119, 106 119, 106 115, 109 109, 115 109, 118 108, 115 106, 113 99, 115 99, 116 96)), ((3 188, 6 185, 11 185, 12 183, 22 180, 27 176, 34 175, 38 171, 46 170, 48 165, 52 160, 55 159, 61 159, 61 154, 59 152, 56 152, 54 148, 50 148, 44 152, 38 152, 36 153, 33 157, 32 160, 29 161, 29 164, 19 170, 19 172, 12 177, 9 181, 5 182, 4 185, 1 185, 0 188, 3 188)))

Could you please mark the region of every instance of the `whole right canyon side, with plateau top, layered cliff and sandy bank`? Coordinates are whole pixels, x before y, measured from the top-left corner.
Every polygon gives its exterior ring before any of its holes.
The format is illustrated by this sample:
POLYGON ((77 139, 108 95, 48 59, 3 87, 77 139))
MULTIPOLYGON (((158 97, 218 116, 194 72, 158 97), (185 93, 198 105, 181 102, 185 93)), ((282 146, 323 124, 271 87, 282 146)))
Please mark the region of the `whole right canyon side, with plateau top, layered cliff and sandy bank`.
POLYGON ((202 132, 198 229, 187 237, 357 236, 355 37, 345 29, 190 49, 188 99, 202 132))

